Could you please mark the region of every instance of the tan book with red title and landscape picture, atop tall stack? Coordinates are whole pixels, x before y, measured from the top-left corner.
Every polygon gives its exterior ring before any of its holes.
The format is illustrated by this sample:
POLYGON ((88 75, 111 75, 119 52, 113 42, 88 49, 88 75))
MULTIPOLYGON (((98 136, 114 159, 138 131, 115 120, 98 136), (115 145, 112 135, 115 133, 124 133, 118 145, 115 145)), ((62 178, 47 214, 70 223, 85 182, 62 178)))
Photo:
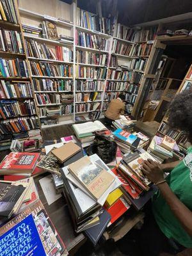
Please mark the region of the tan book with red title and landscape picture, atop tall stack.
POLYGON ((99 164, 93 163, 88 156, 70 164, 68 170, 90 192, 95 200, 99 200, 100 196, 115 180, 111 173, 108 173, 99 164))

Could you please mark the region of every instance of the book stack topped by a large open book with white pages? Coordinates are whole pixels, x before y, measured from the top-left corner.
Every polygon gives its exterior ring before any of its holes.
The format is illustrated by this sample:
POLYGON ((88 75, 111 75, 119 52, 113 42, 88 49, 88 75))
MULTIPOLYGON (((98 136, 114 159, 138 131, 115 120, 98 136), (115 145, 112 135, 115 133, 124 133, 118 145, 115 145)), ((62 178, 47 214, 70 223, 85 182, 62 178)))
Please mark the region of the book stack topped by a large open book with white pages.
POLYGON ((95 122, 74 124, 72 125, 72 128, 75 132, 77 140, 83 144, 82 147, 86 147, 93 143, 93 140, 95 139, 94 132, 108 131, 108 129, 98 120, 95 122))

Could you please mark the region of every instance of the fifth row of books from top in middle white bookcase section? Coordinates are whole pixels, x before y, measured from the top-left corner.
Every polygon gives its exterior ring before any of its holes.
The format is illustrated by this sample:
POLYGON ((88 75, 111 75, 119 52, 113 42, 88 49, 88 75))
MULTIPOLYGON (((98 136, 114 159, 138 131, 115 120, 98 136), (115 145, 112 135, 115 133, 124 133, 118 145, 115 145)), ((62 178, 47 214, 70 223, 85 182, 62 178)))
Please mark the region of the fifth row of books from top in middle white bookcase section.
POLYGON ((104 90, 103 81, 82 81, 76 80, 76 92, 83 91, 102 91, 104 90))

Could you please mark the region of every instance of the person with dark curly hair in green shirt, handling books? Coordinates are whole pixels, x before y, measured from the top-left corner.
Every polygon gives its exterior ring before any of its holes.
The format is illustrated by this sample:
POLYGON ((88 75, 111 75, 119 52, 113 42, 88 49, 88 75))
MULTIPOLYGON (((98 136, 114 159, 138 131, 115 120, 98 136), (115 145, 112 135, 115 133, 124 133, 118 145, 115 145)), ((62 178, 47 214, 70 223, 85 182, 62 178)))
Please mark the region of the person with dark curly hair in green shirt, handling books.
MULTIPOLYGON (((168 124, 184 131, 192 144, 191 91, 180 93, 170 104, 168 124)), ((175 252, 182 246, 192 248, 192 147, 188 148, 182 161, 157 164, 148 159, 143 163, 142 171, 159 188, 152 198, 152 212, 164 241, 172 243, 175 252), (168 171, 170 174, 164 179, 163 172, 168 171)), ((163 246, 161 244, 161 250, 163 246)))

